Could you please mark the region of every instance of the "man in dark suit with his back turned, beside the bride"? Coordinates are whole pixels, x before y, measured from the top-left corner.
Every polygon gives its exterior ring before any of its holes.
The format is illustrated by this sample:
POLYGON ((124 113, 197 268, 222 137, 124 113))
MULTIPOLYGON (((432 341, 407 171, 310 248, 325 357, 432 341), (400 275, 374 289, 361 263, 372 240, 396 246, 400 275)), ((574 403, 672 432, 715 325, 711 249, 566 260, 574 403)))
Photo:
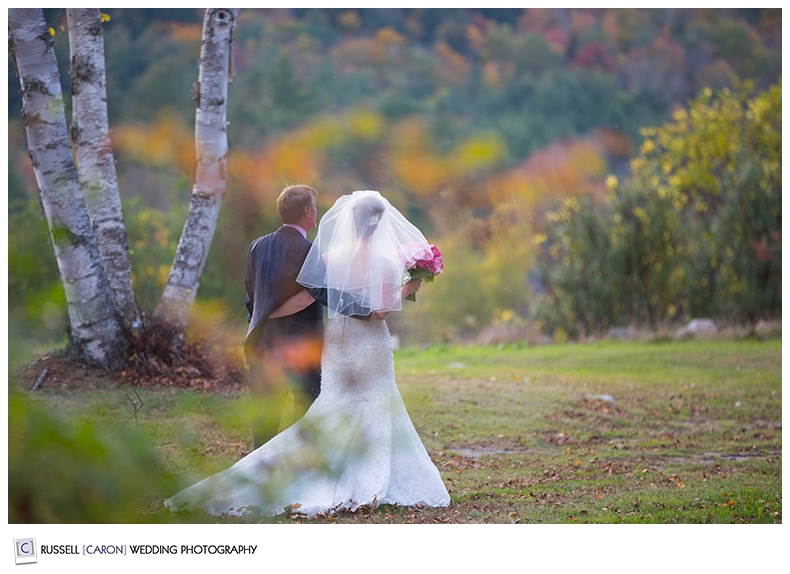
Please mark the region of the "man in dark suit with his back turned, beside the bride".
POLYGON ((315 292, 306 306, 292 306, 298 299, 293 296, 304 290, 296 277, 312 245, 307 232, 316 227, 316 195, 308 185, 286 187, 277 198, 282 227, 253 241, 247 252, 244 286, 250 324, 244 355, 255 402, 253 448, 279 432, 289 389, 294 395, 294 420, 301 418, 321 390, 326 295, 315 292))

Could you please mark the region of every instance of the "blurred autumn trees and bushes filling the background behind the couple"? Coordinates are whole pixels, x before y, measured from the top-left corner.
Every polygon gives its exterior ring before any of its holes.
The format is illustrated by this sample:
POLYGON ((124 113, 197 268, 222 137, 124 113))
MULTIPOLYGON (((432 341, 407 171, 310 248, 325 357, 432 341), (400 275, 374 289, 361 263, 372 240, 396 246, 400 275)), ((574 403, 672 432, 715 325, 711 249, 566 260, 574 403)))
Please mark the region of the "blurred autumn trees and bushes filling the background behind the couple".
MULTIPOLYGON (((108 12, 113 145, 135 290, 150 311, 192 185, 196 70, 184 62, 199 14, 163 11, 169 23, 146 24, 133 10, 108 12), (160 59, 143 66, 144 54, 160 59)), ((758 96, 771 85, 781 94, 781 11, 240 14, 228 186, 194 319, 220 309, 208 322, 235 333, 224 345, 245 331, 246 248, 279 225, 274 200, 296 182, 318 189, 319 212, 378 189, 441 245, 445 273, 392 321, 407 340, 473 339, 503 322, 561 337, 780 313, 781 203, 769 190, 781 155, 766 150, 781 149, 767 119, 781 107, 758 96), (735 71, 753 89, 722 94, 735 71)), ((10 122, 9 141, 17 130, 10 122)), ((34 192, 15 149, 11 205, 34 192)), ((34 211, 14 212, 11 229, 34 211)), ((38 250, 50 265, 45 241, 14 243, 11 293, 26 295, 11 302, 20 324, 40 326, 47 309, 45 333, 56 335, 55 270, 24 263, 38 250)))

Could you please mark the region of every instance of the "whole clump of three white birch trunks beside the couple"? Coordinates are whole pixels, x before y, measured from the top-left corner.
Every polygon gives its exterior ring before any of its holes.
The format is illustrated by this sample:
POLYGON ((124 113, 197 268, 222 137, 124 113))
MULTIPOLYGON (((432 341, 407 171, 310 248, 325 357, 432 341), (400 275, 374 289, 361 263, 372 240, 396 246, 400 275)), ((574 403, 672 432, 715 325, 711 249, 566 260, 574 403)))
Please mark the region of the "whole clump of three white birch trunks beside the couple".
MULTIPOLYGON (((183 339, 225 191, 226 104, 237 16, 235 8, 208 9, 205 15, 192 200, 155 312, 175 327, 177 339, 183 339)), ((109 137, 101 13, 69 9, 68 19, 71 130, 52 36, 41 9, 9 9, 9 53, 19 74, 28 151, 66 292, 67 351, 84 363, 118 369, 128 362, 132 331, 140 326, 141 314, 132 289, 109 137)))

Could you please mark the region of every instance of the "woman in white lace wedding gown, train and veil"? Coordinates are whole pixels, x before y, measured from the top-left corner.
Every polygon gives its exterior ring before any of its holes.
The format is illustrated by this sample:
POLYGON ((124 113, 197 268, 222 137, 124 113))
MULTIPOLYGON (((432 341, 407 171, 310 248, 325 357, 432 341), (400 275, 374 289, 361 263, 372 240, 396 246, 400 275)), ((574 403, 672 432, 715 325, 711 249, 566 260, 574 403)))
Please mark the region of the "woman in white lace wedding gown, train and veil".
MULTIPOLYGON (((168 508, 313 517, 364 505, 449 505, 395 384, 383 320, 419 289, 407 269, 421 251, 430 253, 425 237, 377 191, 335 202, 297 278, 327 291, 320 395, 302 419, 168 499, 168 508), (411 255, 404 255, 407 245, 411 255), (346 316, 352 308, 369 319, 346 316)), ((305 293, 295 298, 309 298, 305 293)))

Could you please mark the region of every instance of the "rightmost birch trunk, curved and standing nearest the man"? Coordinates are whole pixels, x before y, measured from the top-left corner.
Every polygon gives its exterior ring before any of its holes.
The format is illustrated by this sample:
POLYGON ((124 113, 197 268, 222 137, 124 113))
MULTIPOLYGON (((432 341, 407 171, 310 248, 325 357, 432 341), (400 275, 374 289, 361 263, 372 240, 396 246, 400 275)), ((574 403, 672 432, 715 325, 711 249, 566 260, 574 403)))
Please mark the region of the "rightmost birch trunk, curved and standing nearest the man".
POLYGON ((227 95, 233 30, 238 9, 210 8, 203 21, 197 84, 195 147, 197 165, 189 213, 170 276, 154 315, 183 336, 206 264, 228 162, 227 95))

